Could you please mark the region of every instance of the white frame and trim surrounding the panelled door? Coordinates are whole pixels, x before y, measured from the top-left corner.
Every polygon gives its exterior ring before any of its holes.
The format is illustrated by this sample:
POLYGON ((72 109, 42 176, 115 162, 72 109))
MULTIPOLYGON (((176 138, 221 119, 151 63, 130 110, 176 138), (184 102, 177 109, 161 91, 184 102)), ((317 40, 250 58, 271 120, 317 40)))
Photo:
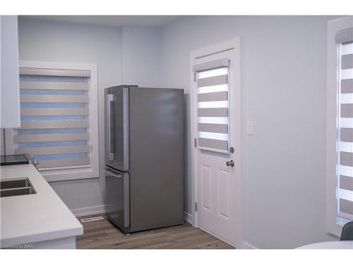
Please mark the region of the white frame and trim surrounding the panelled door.
MULTIPOLYGON (((189 68, 189 73, 190 73, 190 134, 191 134, 191 140, 190 140, 190 148, 191 148, 191 220, 192 220, 192 225, 193 227, 198 227, 204 230, 202 227, 198 226, 198 215, 196 211, 196 202, 197 202, 197 182, 196 182, 196 175, 197 175, 197 148, 194 146, 194 139, 197 138, 196 133, 196 120, 197 120, 197 112, 196 112, 196 92, 194 91, 195 87, 195 81, 193 77, 193 65, 194 65, 194 60, 195 58, 201 58, 205 56, 210 56, 213 54, 218 54, 224 51, 229 51, 235 49, 237 51, 237 56, 234 56, 233 61, 236 60, 239 67, 239 71, 235 73, 236 76, 235 78, 238 79, 237 82, 232 82, 234 85, 237 85, 236 89, 239 89, 239 97, 232 99, 232 103, 236 103, 235 107, 235 114, 232 113, 231 118, 237 118, 237 123, 239 124, 239 136, 236 137, 235 142, 232 144, 234 146, 237 146, 237 149, 239 149, 239 157, 237 157, 237 168, 236 168, 236 175, 237 175, 237 201, 236 201, 236 206, 237 206, 237 213, 236 213, 236 223, 237 226, 234 227, 236 232, 237 232, 237 238, 236 241, 225 241, 221 237, 218 237, 217 234, 211 234, 214 237, 217 237, 218 239, 221 239, 228 244, 231 244, 232 246, 237 247, 238 249, 243 247, 243 232, 242 232, 242 218, 241 218, 241 213, 242 213, 242 206, 241 206, 241 179, 243 178, 243 161, 244 161, 244 153, 243 153, 243 92, 241 89, 241 42, 239 37, 235 37, 234 39, 229 39, 225 42, 219 42, 210 46, 205 46, 201 49, 196 49, 190 52, 190 68, 189 68)), ((238 134, 238 133, 237 133, 238 134)), ((205 232, 210 233, 208 230, 204 230, 205 232)))

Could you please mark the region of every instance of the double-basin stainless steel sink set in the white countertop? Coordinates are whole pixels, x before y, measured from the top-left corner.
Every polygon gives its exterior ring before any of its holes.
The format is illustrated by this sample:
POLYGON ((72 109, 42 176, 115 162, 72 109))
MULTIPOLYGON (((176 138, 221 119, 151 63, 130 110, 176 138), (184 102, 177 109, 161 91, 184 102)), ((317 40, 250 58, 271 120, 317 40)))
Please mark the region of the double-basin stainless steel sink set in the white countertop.
POLYGON ((4 180, 0 182, 0 197, 35 194, 28 177, 16 180, 4 180))

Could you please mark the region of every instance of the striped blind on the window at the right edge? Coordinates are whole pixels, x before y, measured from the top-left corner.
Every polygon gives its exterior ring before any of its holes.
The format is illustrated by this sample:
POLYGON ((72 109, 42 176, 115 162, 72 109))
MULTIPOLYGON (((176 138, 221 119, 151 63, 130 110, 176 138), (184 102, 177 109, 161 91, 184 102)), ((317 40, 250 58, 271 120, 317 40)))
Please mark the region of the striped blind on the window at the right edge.
POLYGON ((353 220, 353 30, 338 32, 339 108, 338 108, 338 215, 353 220))

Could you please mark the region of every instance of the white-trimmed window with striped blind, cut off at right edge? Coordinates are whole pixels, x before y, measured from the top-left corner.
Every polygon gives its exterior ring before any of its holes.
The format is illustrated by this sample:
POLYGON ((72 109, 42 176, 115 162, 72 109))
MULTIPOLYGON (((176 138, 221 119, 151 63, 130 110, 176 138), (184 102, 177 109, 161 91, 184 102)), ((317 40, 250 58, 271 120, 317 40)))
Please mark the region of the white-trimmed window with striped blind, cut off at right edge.
POLYGON ((327 227, 353 220, 353 17, 328 23, 327 227))

